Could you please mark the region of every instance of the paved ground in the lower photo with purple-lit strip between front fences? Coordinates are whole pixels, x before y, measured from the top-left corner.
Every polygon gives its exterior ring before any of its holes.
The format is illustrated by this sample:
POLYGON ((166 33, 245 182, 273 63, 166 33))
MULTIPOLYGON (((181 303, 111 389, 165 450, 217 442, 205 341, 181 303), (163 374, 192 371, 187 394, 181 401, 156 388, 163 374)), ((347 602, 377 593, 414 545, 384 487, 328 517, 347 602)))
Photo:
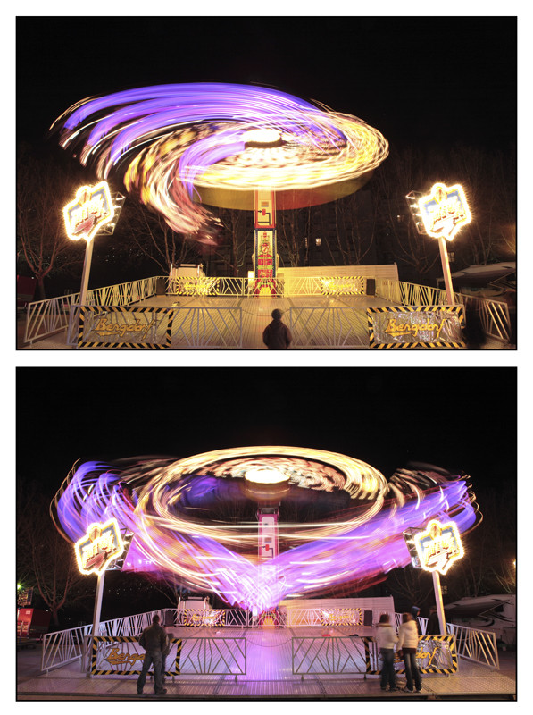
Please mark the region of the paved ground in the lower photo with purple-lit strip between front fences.
MULTIPOLYGON (((176 629, 178 630, 178 629, 176 629)), ((224 629, 224 635, 229 635, 224 629)), ((237 629, 231 629, 237 635, 237 629)), ((382 693, 378 676, 294 676, 290 640, 293 629, 239 630, 246 635, 245 676, 174 677, 165 684, 165 700, 515 700, 514 652, 500 652, 500 670, 460 660, 450 676, 424 675, 421 693, 382 693), (275 671, 275 672, 274 672, 275 671)), ((199 631, 196 631, 197 635, 199 631)), ((175 633, 175 635, 182 635, 175 633)), ((298 629, 298 635, 302 635, 298 629)), ((400 684, 404 683, 400 679, 400 684)), ((156 698, 150 681, 137 695, 137 676, 87 677, 79 661, 49 673, 40 672, 40 649, 17 653, 17 699, 130 701, 156 698)))

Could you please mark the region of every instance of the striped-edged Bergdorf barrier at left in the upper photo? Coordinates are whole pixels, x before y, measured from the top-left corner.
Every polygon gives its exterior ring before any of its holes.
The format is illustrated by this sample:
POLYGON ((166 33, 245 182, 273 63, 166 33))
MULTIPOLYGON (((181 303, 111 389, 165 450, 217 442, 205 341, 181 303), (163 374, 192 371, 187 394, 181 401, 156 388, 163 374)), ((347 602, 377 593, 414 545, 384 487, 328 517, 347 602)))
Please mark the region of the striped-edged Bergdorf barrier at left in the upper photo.
POLYGON ((165 349, 171 347, 172 320, 174 311, 167 307, 129 307, 129 306, 82 306, 79 310, 78 347, 108 349, 165 349), (128 315, 134 323, 128 323, 128 315), (122 323, 119 322, 122 317, 122 323), (146 341, 148 331, 157 328, 157 320, 167 318, 167 326, 160 342, 146 341), (87 332, 87 336, 86 336, 87 332), (99 340, 87 340, 96 334, 99 340), (126 337, 138 340, 122 340, 126 337), (119 340, 102 340, 119 338, 119 340))

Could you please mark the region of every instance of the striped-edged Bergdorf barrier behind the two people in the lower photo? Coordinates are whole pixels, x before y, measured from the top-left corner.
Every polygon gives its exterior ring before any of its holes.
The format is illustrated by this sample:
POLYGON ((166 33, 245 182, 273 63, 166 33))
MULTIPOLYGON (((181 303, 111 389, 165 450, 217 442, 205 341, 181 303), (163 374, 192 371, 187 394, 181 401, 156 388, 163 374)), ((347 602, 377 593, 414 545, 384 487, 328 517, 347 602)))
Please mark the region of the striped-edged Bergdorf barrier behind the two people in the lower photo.
MULTIPOLYGON (((366 660, 367 675, 377 676, 381 672, 378 667, 379 648, 373 637, 363 636, 364 653, 366 660), (373 647, 372 647, 373 645, 373 647)), ((403 660, 396 654, 395 665, 403 664, 403 660)), ((457 649, 455 648, 455 638, 453 635, 421 635, 419 636, 418 649, 416 652, 416 662, 422 674, 438 673, 440 675, 450 675, 456 673, 459 668, 457 649)), ((404 668, 396 669, 396 673, 402 674, 404 668)))

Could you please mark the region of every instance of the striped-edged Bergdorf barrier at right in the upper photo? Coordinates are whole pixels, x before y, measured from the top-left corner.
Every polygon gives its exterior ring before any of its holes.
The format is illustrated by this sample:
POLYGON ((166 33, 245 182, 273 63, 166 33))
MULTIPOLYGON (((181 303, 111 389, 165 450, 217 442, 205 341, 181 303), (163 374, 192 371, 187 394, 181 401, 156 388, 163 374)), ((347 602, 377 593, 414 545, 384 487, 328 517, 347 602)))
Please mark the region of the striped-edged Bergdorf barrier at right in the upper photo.
POLYGON ((387 306, 367 308, 371 348, 466 348, 462 306, 387 306))

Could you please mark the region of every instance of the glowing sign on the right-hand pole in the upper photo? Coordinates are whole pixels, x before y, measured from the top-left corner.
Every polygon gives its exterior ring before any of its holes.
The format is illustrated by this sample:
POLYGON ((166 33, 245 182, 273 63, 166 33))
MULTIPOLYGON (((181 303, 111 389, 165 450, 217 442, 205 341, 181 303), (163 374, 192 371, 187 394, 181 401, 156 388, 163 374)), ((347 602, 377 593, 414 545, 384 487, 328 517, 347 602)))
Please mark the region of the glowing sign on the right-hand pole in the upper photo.
POLYGON ((460 184, 448 188, 434 184, 428 196, 419 198, 422 222, 429 236, 453 240, 457 231, 471 222, 471 212, 460 184))

